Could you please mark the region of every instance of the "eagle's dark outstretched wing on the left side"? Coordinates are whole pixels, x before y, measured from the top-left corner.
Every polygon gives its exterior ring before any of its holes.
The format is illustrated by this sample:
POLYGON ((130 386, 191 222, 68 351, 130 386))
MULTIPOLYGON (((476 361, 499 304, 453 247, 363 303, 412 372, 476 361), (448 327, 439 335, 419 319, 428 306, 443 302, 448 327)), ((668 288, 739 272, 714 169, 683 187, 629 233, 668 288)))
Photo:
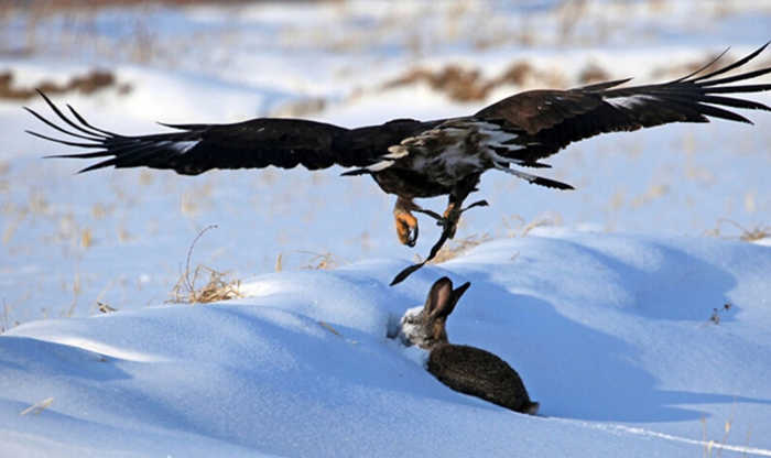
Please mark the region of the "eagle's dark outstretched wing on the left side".
POLYGON ((422 129, 422 123, 414 120, 397 120, 377 129, 349 130, 302 119, 258 118, 232 124, 164 124, 177 132, 129 137, 91 126, 70 106, 67 108, 72 117, 67 117, 43 92, 41 96, 67 127, 57 126, 29 108, 26 110, 73 141, 29 133, 70 146, 97 150, 53 157, 109 157, 80 172, 108 166, 148 166, 197 175, 211 168, 261 168, 269 165, 283 168, 303 165, 308 170, 335 164, 367 166, 380 160, 380 154, 387 152, 389 144, 399 142, 401 135, 422 129))

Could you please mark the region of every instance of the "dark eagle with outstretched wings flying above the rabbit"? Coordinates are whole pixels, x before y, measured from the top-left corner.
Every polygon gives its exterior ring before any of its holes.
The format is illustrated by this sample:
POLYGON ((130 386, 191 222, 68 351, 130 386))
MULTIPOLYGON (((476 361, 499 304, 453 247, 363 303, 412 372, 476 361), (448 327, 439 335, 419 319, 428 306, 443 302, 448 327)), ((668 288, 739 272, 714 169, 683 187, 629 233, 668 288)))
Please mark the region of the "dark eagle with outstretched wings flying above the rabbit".
MULTIPOLYGON (((726 50, 704 67, 666 83, 625 86, 631 80, 627 78, 565 90, 528 90, 470 116, 428 121, 394 119, 354 129, 304 119, 256 118, 225 124, 162 123, 174 131, 122 135, 93 126, 69 105, 67 116, 40 92, 59 123, 24 108, 69 138, 26 132, 85 150, 48 157, 102 159, 80 172, 144 166, 198 175, 213 168, 302 165, 313 171, 338 165, 349 168, 343 175, 370 175, 382 190, 397 196, 393 217, 401 243, 413 247, 417 240, 415 212, 428 215, 443 227, 427 261, 453 238, 464 211, 487 205, 479 200, 463 207, 468 195, 477 190, 481 174, 489 170, 535 185, 572 189, 568 184, 523 168, 549 167, 542 162, 545 157, 573 142, 606 132, 671 122, 709 122, 710 118, 751 123, 730 109, 771 109, 726 95, 771 89, 771 84, 731 85, 771 73, 771 67, 720 75, 747 64, 768 45, 708 72, 726 50), (416 198, 444 195, 448 201, 442 215, 415 203, 416 198)), ((402 274, 394 282, 406 276, 402 274)))

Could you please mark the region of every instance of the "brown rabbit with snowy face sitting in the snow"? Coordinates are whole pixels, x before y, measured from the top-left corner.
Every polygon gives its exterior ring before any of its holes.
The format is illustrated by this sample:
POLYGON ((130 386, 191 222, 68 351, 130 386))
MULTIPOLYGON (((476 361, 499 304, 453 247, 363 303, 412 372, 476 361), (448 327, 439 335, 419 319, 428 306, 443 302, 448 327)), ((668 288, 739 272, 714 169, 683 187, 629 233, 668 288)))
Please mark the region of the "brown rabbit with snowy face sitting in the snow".
POLYGON ((447 341, 447 317, 469 286, 466 282, 453 290, 448 277, 437 280, 425 305, 409 309, 402 317, 402 342, 428 350, 426 369, 452 390, 535 415, 540 404, 530 400, 519 374, 506 361, 489 351, 447 341))

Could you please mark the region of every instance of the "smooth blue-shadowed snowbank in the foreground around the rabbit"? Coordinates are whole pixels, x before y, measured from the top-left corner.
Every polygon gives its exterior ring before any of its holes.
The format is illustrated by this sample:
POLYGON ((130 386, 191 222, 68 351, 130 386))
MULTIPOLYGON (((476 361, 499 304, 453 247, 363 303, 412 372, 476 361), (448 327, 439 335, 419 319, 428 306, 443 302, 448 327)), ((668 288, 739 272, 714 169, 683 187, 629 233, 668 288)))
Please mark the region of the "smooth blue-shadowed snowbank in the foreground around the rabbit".
POLYGON ((0 336, 1 448, 650 457, 715 440, 721 456, 771 455, 771 248, 552 230, 388 287, 401 265, 273 273, 227 303, 15 327, 0 336), (450 391, 386 337, 441 275, 471 282, 450 341, 510 362, 539 416, 450 391))

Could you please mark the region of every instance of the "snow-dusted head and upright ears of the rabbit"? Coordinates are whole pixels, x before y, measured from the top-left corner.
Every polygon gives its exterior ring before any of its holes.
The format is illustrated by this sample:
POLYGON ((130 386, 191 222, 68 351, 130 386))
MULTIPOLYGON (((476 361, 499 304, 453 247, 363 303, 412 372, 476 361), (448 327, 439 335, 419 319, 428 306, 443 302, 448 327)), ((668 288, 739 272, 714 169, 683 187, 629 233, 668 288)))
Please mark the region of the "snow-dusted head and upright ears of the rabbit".
POLYGON ((466 282, 453 290, 453 282, 448 277, 437 280, 423 307, 411 308, 402 317, 400 336, 404 345, 431 349, 438 344, 447 344, 447 316, 470 285, 466 282))

